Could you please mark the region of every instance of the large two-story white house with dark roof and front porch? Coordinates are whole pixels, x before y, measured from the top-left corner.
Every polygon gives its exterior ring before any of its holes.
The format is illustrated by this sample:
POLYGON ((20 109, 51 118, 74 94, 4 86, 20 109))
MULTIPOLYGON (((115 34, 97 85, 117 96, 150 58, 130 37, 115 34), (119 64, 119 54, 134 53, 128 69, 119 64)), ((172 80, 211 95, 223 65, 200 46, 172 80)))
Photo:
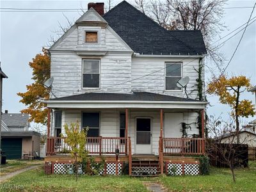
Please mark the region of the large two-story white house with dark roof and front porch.
POLYGON ((135 171, 134 160, 141 162, 141 156, 149 159, 145 167, 160 164, 157 173, 163 163, 173 166, 172 155, 177 163, 198 164, 184 155, 204 154, 207 102, 199 98, 205 93, 206 49, 200 31, 167 31, 126 1, 106 14, 104 3, 90 3, 49 51, 54 81, 52 99, 45 101, 51 113, 45 162, 61 160, 54 155, 68 148, 58 138, 65 135, 63 125, 79 122, 81 129, 89 127, 89 153, 115 154, 118 147, 130 175, 142 172, 135 171), (186 76, 187 92, 177 86, 186 76))

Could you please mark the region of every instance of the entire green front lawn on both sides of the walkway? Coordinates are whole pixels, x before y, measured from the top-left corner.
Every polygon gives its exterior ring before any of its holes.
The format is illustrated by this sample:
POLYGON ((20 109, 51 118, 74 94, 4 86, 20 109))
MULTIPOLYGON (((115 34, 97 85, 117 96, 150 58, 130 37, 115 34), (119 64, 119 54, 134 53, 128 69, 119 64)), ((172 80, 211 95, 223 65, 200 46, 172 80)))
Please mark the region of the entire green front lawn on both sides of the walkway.
POLYGON ((70 175, 45 175, 42 168, 21 173, 4 182, 1 191, 147 191, 144 182, 157 182, 168 191, 255 191, 256 163, 236 170, 232 182, 228 169, 211 168, 207 176, 134 178, 129 176, 81 176, 78 182, 70 175))

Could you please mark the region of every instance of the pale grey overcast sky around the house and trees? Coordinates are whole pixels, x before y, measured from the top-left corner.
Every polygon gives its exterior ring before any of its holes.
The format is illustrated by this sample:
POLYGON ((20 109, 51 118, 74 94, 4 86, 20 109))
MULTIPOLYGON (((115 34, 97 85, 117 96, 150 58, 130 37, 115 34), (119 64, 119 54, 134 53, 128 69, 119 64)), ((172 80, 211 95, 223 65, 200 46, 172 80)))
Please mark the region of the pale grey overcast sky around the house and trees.
MULTIPOLYGON (((1 1, 1 8, 45 8, 45 9, 67 9, 67 8, 87 8, 89 2, 105 2, 106 1, 1 1)), ((117 4, 121 1, 114 1, 117 4)), ((132 1, 128 1, 132 3, 132 1)), ((225 7, 250 6, 255 1, 228 1, 225 7)), ((225 9, 223 22, 227 29, 220 35, 224 36, 229 31, 247 22, 250 17, 252 8, 241 9, 225 9)), ((70 20, 76 20, 80 17, 78 12, 65 12, 70 20)), ((252 17, 256 16, 256 10, 252 17)), ((10 113, 19 113, 25 106, 19 102, 20 97, 17 92, 26 92, 26 84, 31 81, 31 68, 29 61, 38 52, 42 51, 42 46, 47 44, 52 31, 58 29, 58 22, 67 24, 63 12, 1 12, 1 68, 8 76, 4 79, 3 84, 3 110, 8 109, 10 113)), ((225 54, 227 65, 230 56, 234 52, 236 45, 242 33, 236 35, 221 48, 221 52, 225 54)), ((244 75, 250 77, 251 83, 256 84, 256 22, 248 26, 243 40, 234 56, 230 66, 227 68, 228 74, 244 75)), ((210 79, 211 74, 207 74, 210 79)), ((252 93, 244 93, 243 97, 253 100, 255 96, 252 93)), ((209 97, 211 107, 208 112, 210 115, 220 115, 227 118, 230 111, 228 106, 220 104, 217 97, 209 97)), ((252 120, 250 118, 248 120, 252 120)))

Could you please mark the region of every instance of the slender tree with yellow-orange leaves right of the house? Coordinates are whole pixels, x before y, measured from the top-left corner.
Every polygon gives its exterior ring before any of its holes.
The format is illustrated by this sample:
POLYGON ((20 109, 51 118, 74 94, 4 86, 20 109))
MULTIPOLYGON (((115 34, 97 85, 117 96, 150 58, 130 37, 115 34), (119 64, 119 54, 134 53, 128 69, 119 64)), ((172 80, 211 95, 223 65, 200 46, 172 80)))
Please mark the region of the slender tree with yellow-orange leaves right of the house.
POLYGON ((214 77, 208 84, 207 92, 218 95, 222 104, 228 104, 232 111, 230 115, 236 121, 237 143, 239 142, 239 118, 255 115, 255 106, 252 100, 241 100, 241 93, 250 88, 250 79, 245 76, 233 76, 227 79, 225 75, 214 77))

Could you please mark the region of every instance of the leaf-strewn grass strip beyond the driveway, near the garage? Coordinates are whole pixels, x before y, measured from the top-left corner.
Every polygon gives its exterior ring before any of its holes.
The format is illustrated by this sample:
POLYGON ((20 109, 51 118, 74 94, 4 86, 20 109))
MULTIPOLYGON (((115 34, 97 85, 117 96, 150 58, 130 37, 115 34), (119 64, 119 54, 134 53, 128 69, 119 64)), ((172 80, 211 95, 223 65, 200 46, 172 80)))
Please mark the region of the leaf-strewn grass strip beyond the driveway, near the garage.
POLYGON ((0 167, 0 176, 7 175, 8 173, 15 172, 17 170, 21 170, 23 168, 33 166, 36 164, 43 164, 44 160, 7 160, 6 164, 1 164, 0 167))

